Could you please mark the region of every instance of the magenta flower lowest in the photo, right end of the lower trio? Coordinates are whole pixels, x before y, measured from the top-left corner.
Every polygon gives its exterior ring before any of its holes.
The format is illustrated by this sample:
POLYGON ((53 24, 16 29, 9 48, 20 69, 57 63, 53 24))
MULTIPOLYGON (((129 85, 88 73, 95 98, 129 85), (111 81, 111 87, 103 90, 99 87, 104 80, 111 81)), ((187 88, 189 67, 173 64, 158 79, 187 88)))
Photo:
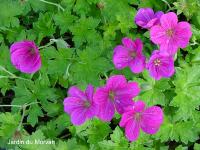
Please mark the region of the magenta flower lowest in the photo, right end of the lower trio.
POLYGON ((139 100, 134 105, 127 107, 119 125, 125 128, 125 134, 129 141, 135 141, 139 136, 140 128, 147 134, 155 134, 162 122, 163 111, 160 107, 145 108, 145 103, 139 100))

